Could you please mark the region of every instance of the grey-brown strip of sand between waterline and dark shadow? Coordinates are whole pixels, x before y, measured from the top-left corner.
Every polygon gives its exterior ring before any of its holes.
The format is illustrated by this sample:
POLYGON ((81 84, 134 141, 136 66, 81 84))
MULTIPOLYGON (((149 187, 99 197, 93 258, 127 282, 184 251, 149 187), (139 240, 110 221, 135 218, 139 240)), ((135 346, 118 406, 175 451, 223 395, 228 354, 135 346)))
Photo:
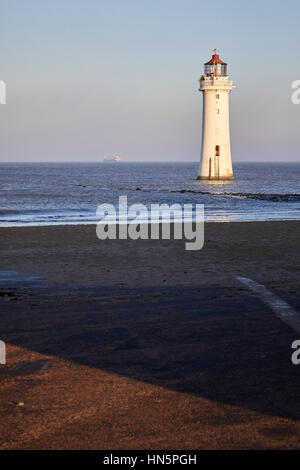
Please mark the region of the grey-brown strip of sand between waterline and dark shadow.
POLYGON ((51 285, 229 285, 237 275, 298 286, 300 223, 208 223, 202 250, 182 240, 106 240, 94 225, 1 228, 2 270, 51 285))

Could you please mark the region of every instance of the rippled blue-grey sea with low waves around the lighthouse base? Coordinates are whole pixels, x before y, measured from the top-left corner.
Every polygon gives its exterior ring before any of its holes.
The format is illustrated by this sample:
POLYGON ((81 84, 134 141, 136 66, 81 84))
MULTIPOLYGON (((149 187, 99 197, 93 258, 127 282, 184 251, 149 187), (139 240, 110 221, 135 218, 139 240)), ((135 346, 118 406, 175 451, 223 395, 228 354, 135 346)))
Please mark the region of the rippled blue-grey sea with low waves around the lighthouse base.
MULTIPOLYGON (((233 181, 197 181, 199 163, 1 163, 0 226, 94 224, 100 204, 204 204, 207 222, 300 219, 300 163, 234 163, 233 181)), ((176 214, 175 214, 176 219, 176 214)), ((121 222, 121 220, 120 220, 121 222)))

